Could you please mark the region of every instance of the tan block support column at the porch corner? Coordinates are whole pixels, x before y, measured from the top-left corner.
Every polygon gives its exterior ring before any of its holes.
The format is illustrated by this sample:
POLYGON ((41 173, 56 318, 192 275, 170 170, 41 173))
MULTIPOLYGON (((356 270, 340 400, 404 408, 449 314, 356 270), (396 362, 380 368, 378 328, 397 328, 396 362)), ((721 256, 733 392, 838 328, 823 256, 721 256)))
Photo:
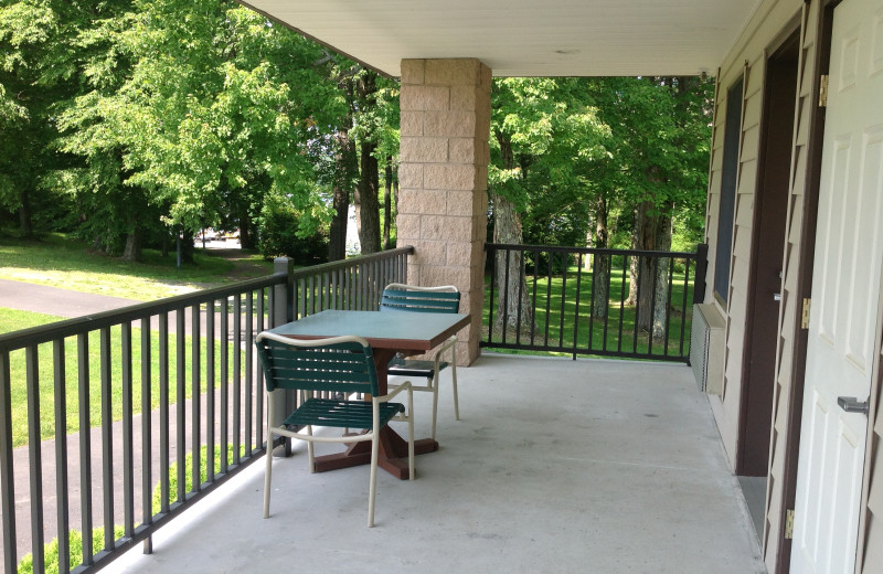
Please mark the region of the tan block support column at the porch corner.
POLYGON ((491 71, 476 59, 403 60, 398 245, 413 245, 412 285, 456 285, 457 362, 479 354, 488 227, 491 71))

